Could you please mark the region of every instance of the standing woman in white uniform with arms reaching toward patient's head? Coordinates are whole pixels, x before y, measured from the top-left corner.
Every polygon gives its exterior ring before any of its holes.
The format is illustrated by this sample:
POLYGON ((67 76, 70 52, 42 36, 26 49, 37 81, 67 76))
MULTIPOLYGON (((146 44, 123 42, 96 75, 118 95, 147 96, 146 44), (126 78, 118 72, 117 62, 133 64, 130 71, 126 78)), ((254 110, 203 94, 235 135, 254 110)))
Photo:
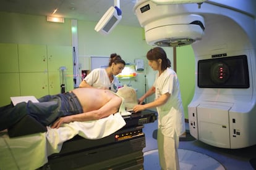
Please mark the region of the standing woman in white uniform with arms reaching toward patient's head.
POLYGON ((161 168, 179 169, 179 136, 185 132, 185 118, 182 107, 179 81, 171 62, 161 47, 147 52, 148 65, 158 71, 153 86, 139 99, 155 93, 155 101, 145 105, 135 105, 134 111, 156 107, 158 111, 158 153, 161 168))

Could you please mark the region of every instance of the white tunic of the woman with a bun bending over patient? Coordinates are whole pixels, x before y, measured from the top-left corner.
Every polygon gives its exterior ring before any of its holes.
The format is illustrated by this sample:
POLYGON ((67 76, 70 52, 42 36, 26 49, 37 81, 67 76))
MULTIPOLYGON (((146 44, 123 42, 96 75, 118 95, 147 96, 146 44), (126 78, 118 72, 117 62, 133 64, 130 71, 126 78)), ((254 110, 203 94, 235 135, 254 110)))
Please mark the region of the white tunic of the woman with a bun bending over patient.
POLYGON ((92 87, 98 89, 110 89, 113 92, 117 92, 119 81, 116 76, 113 77, 113 81, 110 82, 105 68, 96 68, 92 70, 84 80, 92 87))

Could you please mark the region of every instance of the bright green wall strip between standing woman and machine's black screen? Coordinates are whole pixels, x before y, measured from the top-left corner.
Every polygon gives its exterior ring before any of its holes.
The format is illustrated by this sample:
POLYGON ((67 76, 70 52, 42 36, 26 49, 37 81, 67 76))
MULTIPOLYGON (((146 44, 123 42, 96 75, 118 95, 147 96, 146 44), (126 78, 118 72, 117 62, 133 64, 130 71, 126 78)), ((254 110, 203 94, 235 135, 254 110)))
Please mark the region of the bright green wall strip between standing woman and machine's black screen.
POLYGON ((177 76, 181 87, 181 98, 188 119, 187 106, 195 91, 195 55, 191 46, 177 47, 177 76))

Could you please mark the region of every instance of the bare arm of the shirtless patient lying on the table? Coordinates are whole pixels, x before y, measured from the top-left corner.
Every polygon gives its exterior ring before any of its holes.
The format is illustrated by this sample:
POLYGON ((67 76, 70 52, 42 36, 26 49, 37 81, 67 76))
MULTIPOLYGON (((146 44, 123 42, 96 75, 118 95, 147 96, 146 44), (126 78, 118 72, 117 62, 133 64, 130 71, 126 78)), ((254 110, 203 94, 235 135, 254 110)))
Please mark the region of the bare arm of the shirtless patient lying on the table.
POLYGON ((52 128, 59 128, 62 123, 70 123, 72 121, 88 121, 105 118, 111 114, 117 113, 122 103, 122 99, 116 95, 110 99, 103 107, 98 110, 87 111, 77 115, 70 115, 59 118, 53 123, 52 128))

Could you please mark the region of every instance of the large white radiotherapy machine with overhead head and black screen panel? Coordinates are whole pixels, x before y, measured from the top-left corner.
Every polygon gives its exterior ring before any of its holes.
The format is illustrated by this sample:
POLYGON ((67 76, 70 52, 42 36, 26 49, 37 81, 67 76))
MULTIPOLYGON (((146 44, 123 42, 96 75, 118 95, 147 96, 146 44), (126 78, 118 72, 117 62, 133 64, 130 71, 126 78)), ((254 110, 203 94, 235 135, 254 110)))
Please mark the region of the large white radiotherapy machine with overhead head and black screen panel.
POLYGON ((194 49, 190 134, 220 148, 255 145, 255 1, 192 2, 142 0, 134 10, 148 44, 194 49))

